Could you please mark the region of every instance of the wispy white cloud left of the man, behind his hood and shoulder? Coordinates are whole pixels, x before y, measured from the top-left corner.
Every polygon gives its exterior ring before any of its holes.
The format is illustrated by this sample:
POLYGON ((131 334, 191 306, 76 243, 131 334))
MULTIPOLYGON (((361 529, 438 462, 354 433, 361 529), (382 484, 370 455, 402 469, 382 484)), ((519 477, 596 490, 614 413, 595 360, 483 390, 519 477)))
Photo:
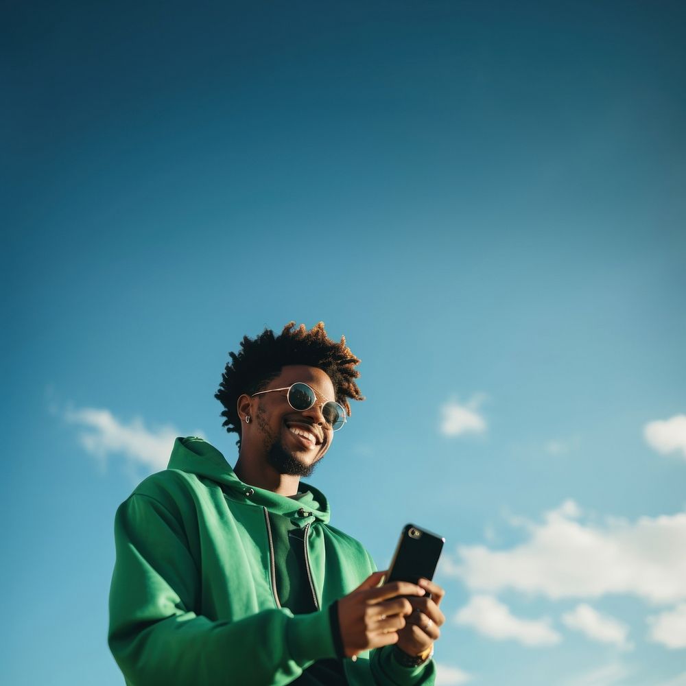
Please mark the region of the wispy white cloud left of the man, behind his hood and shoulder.
POLYGON ((126 424, 109 410, 94 407, 67 410, 64 418, 80 427, 78 440, 95 458, 104 461, 109 455, 121 455, 131 466, 143 466, 148 472, 166 468, 171 447, 179 436, 172 426, 147 429, 140 417, 126 424))

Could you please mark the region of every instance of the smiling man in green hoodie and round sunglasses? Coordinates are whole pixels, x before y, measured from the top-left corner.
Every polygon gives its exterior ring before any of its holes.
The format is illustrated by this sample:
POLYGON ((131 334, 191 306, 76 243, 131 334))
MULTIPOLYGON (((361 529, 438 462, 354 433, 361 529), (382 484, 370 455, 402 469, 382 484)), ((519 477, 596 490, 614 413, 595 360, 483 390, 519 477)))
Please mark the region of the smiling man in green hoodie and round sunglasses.
MULTIPOLYGON (((287 324, 230 353, 215 397, 239 435, 231 469, 178 438, 166 471, 117 510, 109 644, 126 683, 434 683, 444 595, 428 580, 379 587, 364 547, 329 525, 300 482, 362 400, 359 359, 287 324)), ((373 517, 373 512, 370 512, 373 517)))

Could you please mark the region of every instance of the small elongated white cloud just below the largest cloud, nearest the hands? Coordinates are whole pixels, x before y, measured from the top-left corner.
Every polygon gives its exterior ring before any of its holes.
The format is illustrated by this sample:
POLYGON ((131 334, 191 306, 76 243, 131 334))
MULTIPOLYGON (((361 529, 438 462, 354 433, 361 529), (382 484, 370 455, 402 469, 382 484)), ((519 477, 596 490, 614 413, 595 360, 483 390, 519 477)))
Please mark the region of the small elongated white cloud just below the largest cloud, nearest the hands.
POLYGON ((497 641, 513 639, 525 646, 552 646, 560 635, 550 626, 547 617, 521 619, 493 595, 475 595, 455 615, 457 624, 475 628, 480 634, 497 641))

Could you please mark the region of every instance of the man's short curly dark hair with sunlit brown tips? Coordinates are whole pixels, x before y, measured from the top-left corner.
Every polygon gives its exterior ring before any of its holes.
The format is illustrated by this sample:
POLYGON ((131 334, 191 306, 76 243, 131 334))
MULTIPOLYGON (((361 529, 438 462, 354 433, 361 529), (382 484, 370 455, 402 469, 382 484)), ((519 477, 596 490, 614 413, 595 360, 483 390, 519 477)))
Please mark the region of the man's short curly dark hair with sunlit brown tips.
POLYGON ((287 364, 304 364, 318 367, 329 375, 333 383, 335 400, 350 416, 348 399, 364 400, 355 379, 359 372, 355 366, 359 359, 346 345, 345 336, 337 343, 324 331, 324 322, 319 322, 307 331, 305 324, 294 329, 296 322, 288 322, 278 336, 272 329, 265 329, 256 338, 244 336, 241 350, 228 353, 231 361, 226 364, 222 383, 215 398, 224 405, 224 423, 229 433, 235 431, 241 444, 241 419, 237 402, 241 394, 252 395, 265 390, 272 379, 281 373, 287 364))

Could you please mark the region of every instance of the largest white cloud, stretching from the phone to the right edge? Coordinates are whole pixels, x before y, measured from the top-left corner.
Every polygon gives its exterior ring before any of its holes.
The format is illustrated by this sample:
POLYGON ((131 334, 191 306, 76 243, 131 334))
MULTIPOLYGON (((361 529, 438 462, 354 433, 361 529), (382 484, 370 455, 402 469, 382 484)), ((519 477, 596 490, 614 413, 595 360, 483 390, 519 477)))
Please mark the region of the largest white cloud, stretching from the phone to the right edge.
POLYGON ((528 539, 510 549, 460 546, 442 572, 473 591, 515 589, 548 598, 600 598, 628 593, 650 602, 686 599, 686 512, 577 521, 572 500, 547 512, 543 523, 514 520, 528 539))

